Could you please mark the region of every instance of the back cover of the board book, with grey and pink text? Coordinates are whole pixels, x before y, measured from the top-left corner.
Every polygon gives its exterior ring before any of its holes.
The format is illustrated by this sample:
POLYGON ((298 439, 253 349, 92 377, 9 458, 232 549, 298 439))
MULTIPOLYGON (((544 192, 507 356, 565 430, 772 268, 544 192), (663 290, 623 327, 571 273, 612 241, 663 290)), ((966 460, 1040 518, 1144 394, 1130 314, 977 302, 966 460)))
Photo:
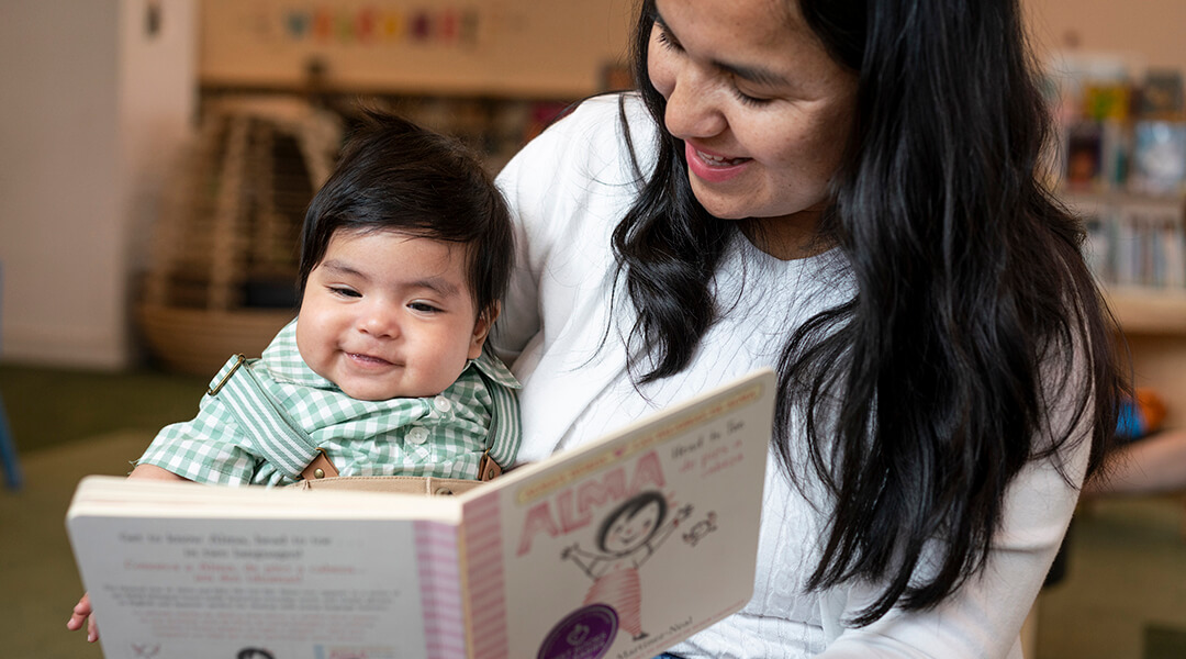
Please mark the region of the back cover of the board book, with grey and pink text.
POLYGON ((68 526, 109 659, 432 659, 440 653, 426 627, 460 610, 454 524, 292 510, 326 500, 345 513, 404 497, 153 484, 145 491, 162 494, 142 501, 140 482, 98 485, 89 497, 79 491, 68 526), (127 512, 185 510, 200 497, 237 499, 237 514, 200 517, 200 500, 184 516, 127 512), (274 517, 283 501, 286 518, 274 517))

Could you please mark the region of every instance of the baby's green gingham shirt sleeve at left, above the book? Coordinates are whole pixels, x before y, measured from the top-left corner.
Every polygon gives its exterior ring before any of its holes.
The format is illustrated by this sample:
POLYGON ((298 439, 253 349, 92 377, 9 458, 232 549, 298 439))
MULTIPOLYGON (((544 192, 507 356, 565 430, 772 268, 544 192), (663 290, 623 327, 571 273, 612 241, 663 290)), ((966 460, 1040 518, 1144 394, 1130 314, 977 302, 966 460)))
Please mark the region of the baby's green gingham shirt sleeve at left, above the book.
POLYGON ((250 440, 230 411, 205 396, 193 420, 162 428, 136 463, 154 465, 196 482, 247 485, 257 467, 247 447, 250 440))

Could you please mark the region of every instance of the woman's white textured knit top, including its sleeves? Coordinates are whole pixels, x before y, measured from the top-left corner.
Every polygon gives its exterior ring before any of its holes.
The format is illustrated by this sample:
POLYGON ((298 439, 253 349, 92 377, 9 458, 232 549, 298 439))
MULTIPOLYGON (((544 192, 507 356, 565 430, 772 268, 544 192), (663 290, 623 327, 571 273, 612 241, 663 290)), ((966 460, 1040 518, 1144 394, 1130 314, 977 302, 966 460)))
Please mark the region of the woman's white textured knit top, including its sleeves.
MULTIPOLYGON (((618 97, 581 104, 529 143, 498 183, 517 224, 518 263, 493 337, 523 384, 519 461, 534 461, 690 398, 757 367, 774 366, 793 327, 853 294, 839 252, 778 261, 735 239, 716 276, 723 318, 680 375, 636 388, 625 372, 616 318, 629 300, 613 293, 610 235, 637 183, 620 136, 618 97)), ((653 126, 637 98, 626 108, 644 171, 653 126)), ((795 434, 792 433, 792 436, 795 434)), ((792 450, 804 447, 792 447, 792 450)), ((1072 475, 1082 475, 1078 450, 1072 475)), ((892 612, 876 623, 843 620, 872 602, 876 584, 808 593, 829 506, 791 486, 770 460, 754 595, 741 612, 672 650, 688 658, 1018 658, 1018 633, 1066 530, 1077 492, 1047 463, 1034 463, 1010 492, 1005 529, 982 576, 933 610, 892 612), (820 506, 812 506, 808 498, 820 506)))

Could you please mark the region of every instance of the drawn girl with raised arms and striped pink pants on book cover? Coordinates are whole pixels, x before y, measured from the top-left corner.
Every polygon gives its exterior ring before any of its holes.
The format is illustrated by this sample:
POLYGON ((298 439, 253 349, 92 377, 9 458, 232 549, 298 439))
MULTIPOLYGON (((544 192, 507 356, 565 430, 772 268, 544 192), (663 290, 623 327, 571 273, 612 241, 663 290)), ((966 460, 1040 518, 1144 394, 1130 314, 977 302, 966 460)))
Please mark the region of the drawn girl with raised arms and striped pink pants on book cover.
POLYGON ((642 625, 642 587, 638 567, 655 554, 680 520, 691 516, 691 506, 677 510, 668 519, 667 499, 657 491, 644 491, 611 512, 598 531, 600 552, 579 544, 565 548, 561 559, 570 559, 593 580, 585 606, 602 603, 618 612, 623 629, 635 640, 646 636, 642 625))

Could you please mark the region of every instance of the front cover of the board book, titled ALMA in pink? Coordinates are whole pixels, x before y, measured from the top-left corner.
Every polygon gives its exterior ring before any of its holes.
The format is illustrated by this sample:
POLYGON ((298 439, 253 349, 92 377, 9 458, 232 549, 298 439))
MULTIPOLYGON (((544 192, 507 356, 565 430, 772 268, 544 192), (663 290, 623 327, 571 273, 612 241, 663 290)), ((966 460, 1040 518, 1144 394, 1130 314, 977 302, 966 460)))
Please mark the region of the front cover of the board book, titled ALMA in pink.
POLYGON ((650 659, 745 606, 773 389, 758 372, 466 494, 472 657, 650 659))

